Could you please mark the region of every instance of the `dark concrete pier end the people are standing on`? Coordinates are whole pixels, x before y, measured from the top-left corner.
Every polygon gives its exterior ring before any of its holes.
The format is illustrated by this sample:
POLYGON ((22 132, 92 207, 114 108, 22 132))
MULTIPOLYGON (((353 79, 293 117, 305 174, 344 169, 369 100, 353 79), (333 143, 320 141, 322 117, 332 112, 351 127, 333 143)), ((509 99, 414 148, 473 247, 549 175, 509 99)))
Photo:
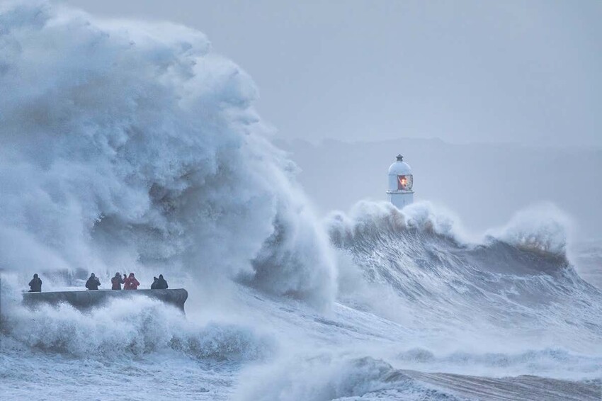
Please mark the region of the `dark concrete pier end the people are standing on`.
POLYGON ((184 303, 188 299, 188 291, 184 288, 168 290, 87 290, 56 291, 49 293, 23 293, 23 304, 35 306, 39 303, 58 305, 69 303, 79 310, 86 310, 102 305, 115 298, 148 297, 177 306, 184 312, 184 303))

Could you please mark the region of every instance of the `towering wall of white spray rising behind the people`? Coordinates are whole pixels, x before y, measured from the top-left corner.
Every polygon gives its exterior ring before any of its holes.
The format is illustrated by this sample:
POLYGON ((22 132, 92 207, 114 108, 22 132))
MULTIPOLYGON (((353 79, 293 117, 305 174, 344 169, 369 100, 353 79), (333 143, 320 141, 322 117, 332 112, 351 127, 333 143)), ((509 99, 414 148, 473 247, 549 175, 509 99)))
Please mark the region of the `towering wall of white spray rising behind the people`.
MULTIPOLYGON (((326 235, 202 33, 0 6, 0 265, 244 278, 328 307, 326 235)), ((109 273, 110 272, 110 273, 109 273)))

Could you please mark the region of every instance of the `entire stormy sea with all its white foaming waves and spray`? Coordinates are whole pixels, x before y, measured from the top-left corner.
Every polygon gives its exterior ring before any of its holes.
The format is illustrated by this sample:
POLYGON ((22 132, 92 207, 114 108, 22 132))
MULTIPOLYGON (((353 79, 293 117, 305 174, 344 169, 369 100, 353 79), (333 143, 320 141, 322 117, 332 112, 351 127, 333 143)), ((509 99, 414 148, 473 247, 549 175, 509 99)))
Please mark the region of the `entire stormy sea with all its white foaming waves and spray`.
POLYGON ((251 79, 168 23, 0 6, 0 93, 3 399, 596 399, 602 293, 557 212, 479 244, 428 203, 317 220, 251 79), (188 316, 19 305, 81 271, 160 271, 188 316))

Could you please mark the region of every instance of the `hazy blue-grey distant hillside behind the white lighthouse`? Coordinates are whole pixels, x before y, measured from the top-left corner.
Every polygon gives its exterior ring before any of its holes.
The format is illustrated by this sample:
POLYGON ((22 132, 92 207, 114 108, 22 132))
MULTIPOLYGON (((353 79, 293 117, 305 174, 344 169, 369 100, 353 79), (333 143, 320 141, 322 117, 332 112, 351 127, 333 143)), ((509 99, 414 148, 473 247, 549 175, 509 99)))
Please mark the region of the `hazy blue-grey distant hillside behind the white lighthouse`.
POLYGON ((416 200, 447 206, 471 230, 504 224, 517 210, 550 200, 574 218, 579 237, 602 237, 602 149, 419 139, 276 145, 302 169, 299 179, 321 213, 364 198, 385 200, 387 169, 401 153, 414 170, 416 200))

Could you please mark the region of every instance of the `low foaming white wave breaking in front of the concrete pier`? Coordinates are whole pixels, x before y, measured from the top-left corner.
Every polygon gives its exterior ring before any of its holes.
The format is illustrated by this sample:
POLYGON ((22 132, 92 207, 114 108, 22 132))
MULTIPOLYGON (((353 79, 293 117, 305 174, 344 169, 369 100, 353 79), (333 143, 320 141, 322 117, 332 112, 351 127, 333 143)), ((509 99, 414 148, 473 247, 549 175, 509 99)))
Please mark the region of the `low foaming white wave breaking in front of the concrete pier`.
POLYGON ((83 313, 71 305, 40 305, 29 310, 8 305, 1 322, 5 354, 39 350, 78 358, 142 356, 166 349, 213 361, 254 361, 276 350, 275 341, 250 327, 195 324, 174 307, 140 298, 113 300, 83 313))

